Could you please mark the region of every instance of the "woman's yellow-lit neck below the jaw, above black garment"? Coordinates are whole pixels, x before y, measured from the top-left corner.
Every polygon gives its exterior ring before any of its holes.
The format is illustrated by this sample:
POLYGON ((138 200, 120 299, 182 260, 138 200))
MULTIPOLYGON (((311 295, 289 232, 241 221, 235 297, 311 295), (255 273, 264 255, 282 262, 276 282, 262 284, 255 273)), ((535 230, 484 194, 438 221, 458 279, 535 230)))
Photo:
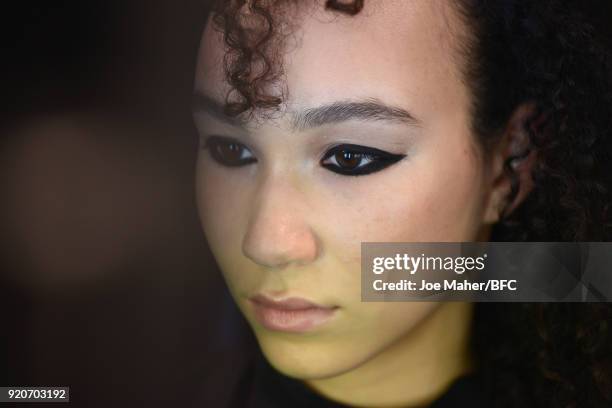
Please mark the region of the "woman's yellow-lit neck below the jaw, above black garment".
POLYGON ((427 406, 471 370, 473 305, 441 303, 424 321, 361 366, 306 382, 326 398, 367 407, 427 406))

